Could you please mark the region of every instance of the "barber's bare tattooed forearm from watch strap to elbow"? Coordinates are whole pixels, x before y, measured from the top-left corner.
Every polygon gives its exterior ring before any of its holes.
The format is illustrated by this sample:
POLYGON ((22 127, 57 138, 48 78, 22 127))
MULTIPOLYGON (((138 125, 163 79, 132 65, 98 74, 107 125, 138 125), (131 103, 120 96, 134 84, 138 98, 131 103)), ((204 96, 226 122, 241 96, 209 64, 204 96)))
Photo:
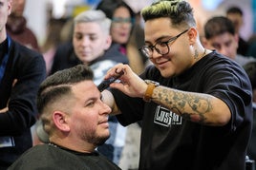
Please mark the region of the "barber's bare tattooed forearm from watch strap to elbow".
POLYGON ((195 123, 221 126, 231 119, 228 106, 208 94, 158 86, 153 91, 152 100, 195 123))

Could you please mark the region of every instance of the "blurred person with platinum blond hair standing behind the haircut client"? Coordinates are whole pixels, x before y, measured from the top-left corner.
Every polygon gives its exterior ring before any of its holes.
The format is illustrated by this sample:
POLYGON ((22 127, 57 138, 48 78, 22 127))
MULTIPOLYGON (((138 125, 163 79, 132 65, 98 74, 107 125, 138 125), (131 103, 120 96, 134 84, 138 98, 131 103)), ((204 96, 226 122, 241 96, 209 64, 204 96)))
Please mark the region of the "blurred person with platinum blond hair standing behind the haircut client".
MULTIPOLYGON (((128 58, 118 49, 119 45, 112 44, 110 28, 111 20, 101 10, 86 10, 75 16, 73 44, 57 50, 52 73, 82 63, 93 69, 94 83, 98 85, 108 69, 117 63, 128 64, 128 58)), ((125 139, 126 128, 117 123, 116 117, 110 117, 109 123, 111 137, 98 151, 117 163, 116 158, 119 158, 122 149, 119 145, 125 139), (119 131, 121 135, 117 136, 119 131), (120 136, 123 141, 117 142, 120 136)))

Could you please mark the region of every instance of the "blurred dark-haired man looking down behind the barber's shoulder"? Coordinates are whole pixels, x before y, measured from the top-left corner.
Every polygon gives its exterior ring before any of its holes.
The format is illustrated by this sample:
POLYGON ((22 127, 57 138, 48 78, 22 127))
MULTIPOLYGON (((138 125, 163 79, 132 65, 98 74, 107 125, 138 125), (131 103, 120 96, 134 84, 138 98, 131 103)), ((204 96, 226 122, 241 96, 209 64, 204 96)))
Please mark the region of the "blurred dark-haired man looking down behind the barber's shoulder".
POLYGON ((203 46, 216 49, 226 57, 235 60, 241 66, 256 61, 253 57, 245 57, 237 53, 239 35, 233 23, 224 16, 210 18, 204 25, 203 46))

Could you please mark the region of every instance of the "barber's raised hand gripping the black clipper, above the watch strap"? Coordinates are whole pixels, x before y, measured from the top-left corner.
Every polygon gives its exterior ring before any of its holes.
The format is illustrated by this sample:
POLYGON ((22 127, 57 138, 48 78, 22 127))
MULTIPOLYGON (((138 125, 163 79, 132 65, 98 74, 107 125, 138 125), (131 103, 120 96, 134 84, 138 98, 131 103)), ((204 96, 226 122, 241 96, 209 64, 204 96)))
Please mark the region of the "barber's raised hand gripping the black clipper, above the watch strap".
POLYGON ((139 78, 139 76, 131 69, 130 66, 122 64, 114 66, 113 68, 108 70, 105 79, 117 76, 118 73, 120 73, 121 71, 123 71, 124 74, 118 78, 120 82, 115 82, 110 86, 113 88, 117 88, 118 90, 122 91, 130 97, 143 98, 147 88, 147 84, 139 78))

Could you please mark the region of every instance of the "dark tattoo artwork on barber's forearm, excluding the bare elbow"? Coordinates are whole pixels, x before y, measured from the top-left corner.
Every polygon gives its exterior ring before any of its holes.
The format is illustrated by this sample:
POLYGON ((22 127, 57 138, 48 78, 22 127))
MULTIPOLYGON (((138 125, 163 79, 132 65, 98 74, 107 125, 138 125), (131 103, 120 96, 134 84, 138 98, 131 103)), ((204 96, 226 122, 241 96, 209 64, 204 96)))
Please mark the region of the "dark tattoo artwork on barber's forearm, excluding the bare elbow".
POLYGON ((196 123, 206 123, 205 114, 213 109, 208 95, 202 96, 163 86, 155 88, 152 97, 154 102, 167 107, 184 119, 196 123))

